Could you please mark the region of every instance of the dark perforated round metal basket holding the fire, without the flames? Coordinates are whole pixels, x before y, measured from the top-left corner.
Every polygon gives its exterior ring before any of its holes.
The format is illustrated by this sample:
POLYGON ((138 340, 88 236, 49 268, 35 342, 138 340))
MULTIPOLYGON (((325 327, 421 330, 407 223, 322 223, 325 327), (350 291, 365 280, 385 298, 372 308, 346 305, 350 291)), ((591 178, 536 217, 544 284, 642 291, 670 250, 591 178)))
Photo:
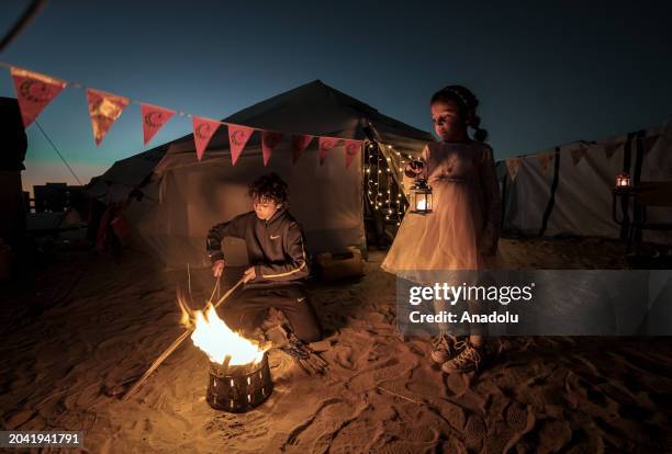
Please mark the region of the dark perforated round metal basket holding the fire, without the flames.
POLYGON ((257 364, 224 367, 210 363, 208 404, 215 410, 242 413, 261 405, 273 390, 268 356, 257 364))

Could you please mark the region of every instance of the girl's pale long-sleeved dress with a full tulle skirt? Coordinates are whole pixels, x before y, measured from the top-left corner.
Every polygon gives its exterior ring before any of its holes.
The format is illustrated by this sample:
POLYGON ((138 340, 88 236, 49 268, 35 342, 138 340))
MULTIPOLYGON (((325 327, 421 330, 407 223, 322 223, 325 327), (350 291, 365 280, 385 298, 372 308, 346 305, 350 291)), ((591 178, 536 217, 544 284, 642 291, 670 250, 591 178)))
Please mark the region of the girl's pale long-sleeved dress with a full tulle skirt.
MULTIPOLYGON (((479 141, 433 143, 421 161, 421 177, 433 190, 433 213, 405 214, 381 268, 405 277, 414 270, 495 268, 502 205, 492 148, 479 141)), ((404 184, 410 188, 413 180, 404 184)))

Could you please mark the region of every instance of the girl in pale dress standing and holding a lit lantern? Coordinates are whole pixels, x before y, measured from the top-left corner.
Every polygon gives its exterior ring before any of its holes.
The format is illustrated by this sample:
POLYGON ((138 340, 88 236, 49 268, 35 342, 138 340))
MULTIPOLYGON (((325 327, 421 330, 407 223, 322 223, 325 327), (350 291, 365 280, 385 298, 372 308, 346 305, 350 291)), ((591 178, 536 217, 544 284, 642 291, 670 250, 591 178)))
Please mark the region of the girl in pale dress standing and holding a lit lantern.
MULTIPOLYGON (((434 192, 433 213, 404 216, 382 269, 399 275, 404 270, 493 269, 502 207, 492 148, 483 143, 488 132, 480 128, 477 115, 479 101, 469 89, 449 86, 429 104, 441 140, 428 144, 419 161, 406 164, 404 185, 426 179, 434 192), (474 129, 473 138, 469 128, 474 129)), ((464 342, 444 332, 433 360, 448 373, 477 370, 484 350, 478 327, 471 327, 464 342)))

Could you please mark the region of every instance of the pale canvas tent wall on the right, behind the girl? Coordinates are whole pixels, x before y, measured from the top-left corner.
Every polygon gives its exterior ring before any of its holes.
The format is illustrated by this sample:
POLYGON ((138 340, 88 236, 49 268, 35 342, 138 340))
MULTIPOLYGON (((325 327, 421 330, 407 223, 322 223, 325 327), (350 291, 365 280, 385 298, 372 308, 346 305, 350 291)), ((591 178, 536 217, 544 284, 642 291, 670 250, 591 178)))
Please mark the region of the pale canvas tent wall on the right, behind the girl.
MULTIPOLYGON (((635 183, 672 182, 672 121, 499 161, 503 228, 525 235, 618 238, 623 232, 613 220, 612 189, 620 173, 629 173, 635 183)), ((671 207, 650 208, 647 215, 649 222, 672 223, 671 207)), ((672 234, 646 230, 643 239, 672 243, 672 234)))

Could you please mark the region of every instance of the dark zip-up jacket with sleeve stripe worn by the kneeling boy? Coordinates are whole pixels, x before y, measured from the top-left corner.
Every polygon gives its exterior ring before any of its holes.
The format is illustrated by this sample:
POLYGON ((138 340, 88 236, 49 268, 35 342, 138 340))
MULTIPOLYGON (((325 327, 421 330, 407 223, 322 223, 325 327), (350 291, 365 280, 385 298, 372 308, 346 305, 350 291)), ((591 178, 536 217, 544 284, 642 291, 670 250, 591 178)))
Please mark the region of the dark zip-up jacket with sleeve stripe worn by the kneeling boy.
POLYGON ((310 274, 303 230, 287 209, 278 211, 269 220, 261 220, 255 212, 249 212, 212 227, 205 248, 213 264, 224 259, 222 240, 225 237, 245 240, 249 262, 257 274, 248 286, 295 283, 310 274))

